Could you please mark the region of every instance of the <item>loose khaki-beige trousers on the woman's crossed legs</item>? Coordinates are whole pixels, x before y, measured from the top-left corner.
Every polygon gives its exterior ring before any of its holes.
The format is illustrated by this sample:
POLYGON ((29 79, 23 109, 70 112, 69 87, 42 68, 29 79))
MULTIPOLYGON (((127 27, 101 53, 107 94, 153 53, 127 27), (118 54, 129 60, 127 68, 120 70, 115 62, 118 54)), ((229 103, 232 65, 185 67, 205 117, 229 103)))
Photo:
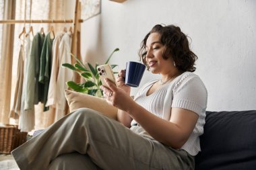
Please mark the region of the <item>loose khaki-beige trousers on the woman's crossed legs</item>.
MULTIPOLYGON (((154 126, 154 125, 152 125, 154 126)), ((186 151, 164 146, 94 110, 65 116, 11 152, 21 170, 44 169, 193 169, 186 151)))

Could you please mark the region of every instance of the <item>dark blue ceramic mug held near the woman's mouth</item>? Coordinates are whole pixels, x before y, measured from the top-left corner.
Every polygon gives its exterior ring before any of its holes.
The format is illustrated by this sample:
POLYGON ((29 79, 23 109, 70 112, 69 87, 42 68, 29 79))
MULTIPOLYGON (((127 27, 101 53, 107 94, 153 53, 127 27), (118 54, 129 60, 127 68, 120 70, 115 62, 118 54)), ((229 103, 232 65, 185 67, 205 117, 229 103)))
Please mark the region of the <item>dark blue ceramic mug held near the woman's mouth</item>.
POLYGON ((126 63, 125 84, 131 87, 139 87, 146 66, 134 61, 126 63))

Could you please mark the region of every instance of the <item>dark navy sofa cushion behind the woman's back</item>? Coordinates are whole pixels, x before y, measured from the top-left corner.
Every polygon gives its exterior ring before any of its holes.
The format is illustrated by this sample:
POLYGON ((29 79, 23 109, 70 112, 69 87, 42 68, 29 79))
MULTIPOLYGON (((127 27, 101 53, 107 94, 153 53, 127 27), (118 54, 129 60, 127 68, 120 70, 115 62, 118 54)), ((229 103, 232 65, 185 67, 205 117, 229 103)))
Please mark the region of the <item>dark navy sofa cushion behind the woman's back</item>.
POLYGON ((206 112, 195 169, 256 169, 256 110, 206 112))

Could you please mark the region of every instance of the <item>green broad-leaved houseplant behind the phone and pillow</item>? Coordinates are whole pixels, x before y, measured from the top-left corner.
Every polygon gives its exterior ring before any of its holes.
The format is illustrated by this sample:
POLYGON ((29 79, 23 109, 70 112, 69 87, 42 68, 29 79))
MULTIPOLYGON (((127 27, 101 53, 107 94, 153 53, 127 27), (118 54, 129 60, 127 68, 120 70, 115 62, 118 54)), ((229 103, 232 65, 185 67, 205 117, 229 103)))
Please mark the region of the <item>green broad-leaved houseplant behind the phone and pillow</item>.
MULTIPOLYGON (((108 56, 104 65, 108 64, 110 58, 117 51, 119 51, 119 48, 113 50, 110 56, 108 56)), ((83 64, 83 62, 79 60, 79 58, 77 58, 75 55, 71 54, 71 56, 75 58, 75 64, 71 65, 69 63, 64 63, 62 66, 67 67, 67 69, 71 69, 72 71, 78 73, 81 77, 84 78, 84 82, 75 83, 74 81, 68 81, 67 86, 77 92, 102 97, 103 93, 100 90, 100 85, 102 85, 102 82, 100 81, 100 77, 96 69, 96 67, 98 67, 98 63, 96 63, 95 66, 92 66, 90 62, 86 62, 85 64, 83 64)), ((110 67, 114 69, 115 67, 117 67, 117 65, 110 65, 110 67)), ((117 72, 114 72, 114 74, 116 73, 117 72)))

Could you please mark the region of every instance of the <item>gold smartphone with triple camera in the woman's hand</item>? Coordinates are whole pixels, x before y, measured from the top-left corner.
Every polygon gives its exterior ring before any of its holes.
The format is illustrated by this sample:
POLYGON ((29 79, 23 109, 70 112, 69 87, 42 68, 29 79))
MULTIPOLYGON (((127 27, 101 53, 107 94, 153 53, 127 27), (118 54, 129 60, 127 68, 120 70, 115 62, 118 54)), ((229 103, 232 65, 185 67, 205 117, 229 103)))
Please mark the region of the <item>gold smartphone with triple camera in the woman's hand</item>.
POLYGON ((113 81, 113 83, 115 83, 116 85, 115 76, 110 65, 100 65, 97 67, 97 71, 98 75, 100 76, 100 81, 102 82, 102 85, 108 87, 108 85, 106 85, 106 82, 104 81, 104 79, 106 78, 110 81, 113 81))

